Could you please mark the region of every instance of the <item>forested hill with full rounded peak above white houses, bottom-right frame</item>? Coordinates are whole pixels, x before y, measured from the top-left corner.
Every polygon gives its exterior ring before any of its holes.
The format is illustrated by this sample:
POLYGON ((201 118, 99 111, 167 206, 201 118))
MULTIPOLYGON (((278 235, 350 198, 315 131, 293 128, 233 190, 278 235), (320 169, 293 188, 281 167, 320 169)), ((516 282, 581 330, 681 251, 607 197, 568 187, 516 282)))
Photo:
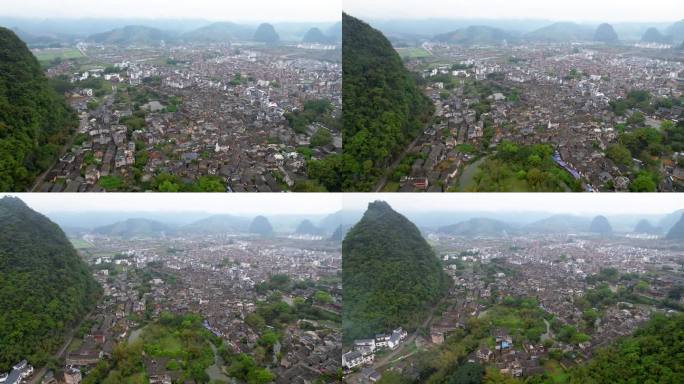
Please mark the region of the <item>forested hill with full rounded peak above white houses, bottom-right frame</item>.
POLYGON ((342 242, 346 342, 403 326, 415 329, 449 286, 416 226, 376 201, 342 242))

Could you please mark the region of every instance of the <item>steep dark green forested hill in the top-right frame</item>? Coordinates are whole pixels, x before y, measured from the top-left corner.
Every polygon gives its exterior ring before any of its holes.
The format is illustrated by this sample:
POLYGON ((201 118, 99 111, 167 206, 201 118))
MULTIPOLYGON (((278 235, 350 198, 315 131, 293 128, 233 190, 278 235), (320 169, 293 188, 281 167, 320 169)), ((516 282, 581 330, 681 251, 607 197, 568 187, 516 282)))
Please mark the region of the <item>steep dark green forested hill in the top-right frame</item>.
POLYGON ((342 139, 354 163, 343 189, 370 191, 434 107, 381 32, 343 14, 342 33, 342 139))

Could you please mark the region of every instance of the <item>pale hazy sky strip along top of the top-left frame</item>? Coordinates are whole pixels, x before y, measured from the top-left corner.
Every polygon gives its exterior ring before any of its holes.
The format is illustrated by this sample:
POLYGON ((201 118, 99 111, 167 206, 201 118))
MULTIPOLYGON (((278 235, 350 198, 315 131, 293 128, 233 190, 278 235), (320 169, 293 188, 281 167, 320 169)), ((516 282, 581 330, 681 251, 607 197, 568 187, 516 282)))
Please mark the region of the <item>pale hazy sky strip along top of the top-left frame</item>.
POLYGON ((342 0, 0 0, 0 16, 338 21, 342 0))

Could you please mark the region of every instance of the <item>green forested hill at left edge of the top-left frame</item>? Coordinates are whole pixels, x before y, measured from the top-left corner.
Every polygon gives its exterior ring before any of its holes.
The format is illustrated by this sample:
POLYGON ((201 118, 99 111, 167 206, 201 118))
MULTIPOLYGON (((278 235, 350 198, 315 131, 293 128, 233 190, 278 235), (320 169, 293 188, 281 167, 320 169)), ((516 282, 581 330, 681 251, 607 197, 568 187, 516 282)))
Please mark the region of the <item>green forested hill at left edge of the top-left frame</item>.
POLYGON ((0 191, 26 190, 77 124, 26 44, 0 27, 0 191))

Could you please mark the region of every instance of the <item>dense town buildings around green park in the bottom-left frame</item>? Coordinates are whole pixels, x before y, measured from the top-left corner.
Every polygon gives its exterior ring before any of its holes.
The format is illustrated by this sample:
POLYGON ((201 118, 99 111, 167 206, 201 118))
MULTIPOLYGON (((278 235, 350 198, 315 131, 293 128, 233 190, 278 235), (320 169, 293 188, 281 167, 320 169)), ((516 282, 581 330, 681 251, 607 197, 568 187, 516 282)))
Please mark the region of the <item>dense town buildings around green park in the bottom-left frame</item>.
MULTIPOLYGON (((116 307, 108 307, 109 316, 125 322, 120 327, 110 326, 118 329, 114 337, 131 340, 139 336, 139 324, 129 320, 135 315, 148 312, 154 319, 161 312, 192 312, 200 314, 204 326, 236 353, 249 354, 258 347, 260 331, 246 322, 257 310, 258 302, 267 299, 267 293, 257 292, 257 284, 275 274, 286 274, 292 280, 320 281, 335 276, 341 268, 339 246, 311 240, 195 235, 135 241, 95 236, 89 237, 89 241, 98 249, 119 255, 118 260, 95 259, 96 268, 116 265, 124 271, 115 275, 115 283, 107 279, 112 276, 108 269, 99 272, 105 296, 119 298, 116 307), (143 282, 136 281, 137 278, 130 281, 130 276, 138 276, 134 271, 140 268, 151 268, 155 276, 173 279, 154 278, 145 284, 149 289, 141 291, 143 282)), ((322 289, 321 284, 296 288, 283 300, 291 304, 295 297, 313 297, 322 289)), ((339 316, 341 286, 325 285, 325 290, 334 300, 317 304, 318 308, 339 316)), ((299 319, 283 330, 278 343, 282 353, 274 353, 277 358, 269 368, 278 383, 312 382, 323 374, 337 372, 341 345, 338 327, 299 319)), ((160 364, 147 361, 148 376, 164 378, 166 373, 160 364)))

